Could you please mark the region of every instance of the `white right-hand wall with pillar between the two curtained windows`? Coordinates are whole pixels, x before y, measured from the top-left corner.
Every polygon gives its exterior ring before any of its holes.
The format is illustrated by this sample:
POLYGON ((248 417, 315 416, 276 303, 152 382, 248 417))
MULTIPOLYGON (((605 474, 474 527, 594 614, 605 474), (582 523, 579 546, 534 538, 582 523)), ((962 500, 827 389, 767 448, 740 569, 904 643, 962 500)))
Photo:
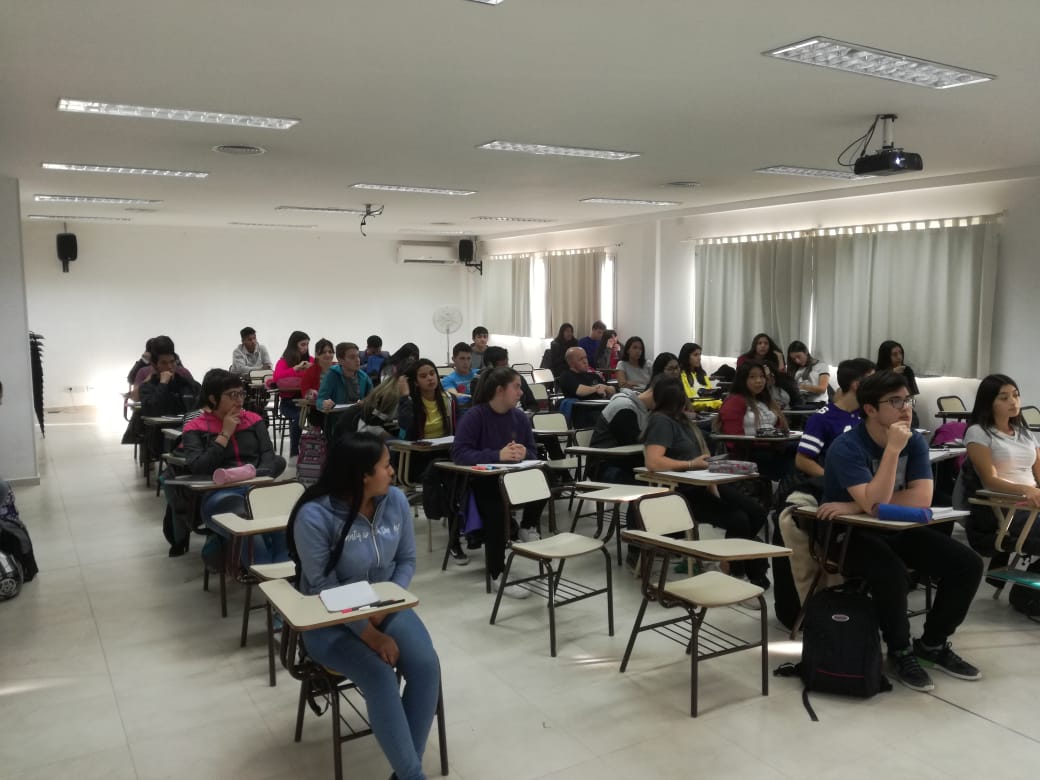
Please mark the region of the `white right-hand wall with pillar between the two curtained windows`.
MULTIPOLYGON (((825 198, 765 207, 735 204, 713 213, 599 229, 560 231, 487 241, 489 253, 595 246, 620 241, 618 320, 622 335, 655 332, 651 352, 675 352, 694 333, 693 248, 690 239, 842 225, 971 216, 1006 212, 993 314, 990 370, 1009 373, 1028 402, 1040 404, 1040 361, 1034 359, 1040 317, 1040 180, 959 184, 886 194, 825 198), (655 261, 659 263, 655 277, 655 261), (656 292, 655 292, 656 291, 656 292), (632 326, 629 326, 629 322, 632 326)), ((922 327, 936 290, 920 291, 922 327)), ((699 338, 698 338, 699 337, 699 338)), ((896 336, 911 365, 913 334, 896 336)), ((709 340, 709 339, 708 339, 709 340)), ((710 345, 704 343, 710 352, 710 345)), ((870 357, 870 356, 867 356, 870 357)), ((965 402, 969 402, 965 398, 965 402)))

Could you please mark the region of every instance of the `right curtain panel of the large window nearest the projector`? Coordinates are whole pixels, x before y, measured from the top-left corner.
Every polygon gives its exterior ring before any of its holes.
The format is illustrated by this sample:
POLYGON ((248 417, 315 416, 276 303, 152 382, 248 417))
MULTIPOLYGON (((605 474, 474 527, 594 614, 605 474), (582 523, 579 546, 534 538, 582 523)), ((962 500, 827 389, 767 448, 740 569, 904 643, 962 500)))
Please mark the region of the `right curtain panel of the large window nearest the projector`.
POLYGON ((874 359, 894 339, 918 374, 988 373, 998 224, 945 222, 816 236, 814 352, 874 359))

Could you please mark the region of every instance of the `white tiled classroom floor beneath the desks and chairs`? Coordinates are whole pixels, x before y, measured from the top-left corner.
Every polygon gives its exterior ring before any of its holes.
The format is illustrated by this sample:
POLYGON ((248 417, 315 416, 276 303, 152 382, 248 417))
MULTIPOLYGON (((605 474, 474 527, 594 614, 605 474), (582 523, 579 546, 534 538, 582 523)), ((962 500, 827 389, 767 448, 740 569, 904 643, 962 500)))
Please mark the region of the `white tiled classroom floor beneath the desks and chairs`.
MULTIPOLYGON (((292 742, 297 688, 267 686, 262 620, 238 647, 241 593, 219 618, 203 593, 198 543, 166 556, 162 504, 137 475, 119 432, 87 415, 51 415, 40 487, 17 491, 42 572, 0 604, 0 778, 251 778, 332 775, 328 716, 308 713, 292 742), (63 424, 61 424, 63 423, 63 424)), ((701 669, 701 717, 688 717, 680 648, 644 634, 618 665, 639 603, 616 569, 616 624, 593 599, 563 608, 558 657, 536 599, 506 601, 488 625, 478 557, 442 573, 425 552, 412 590, 444 669, 451 776, 465 780, 1034 777, 1040 756, 1040 626, 994 602, 983 586, 956 646, 985 673, 970 683, 936 674, 934 695, 902 686, 868 701, 813 696, 774 678, 758 691, 758 659, 737 653, 701 669)), ((572 574, 602 576, 602 565, 572 574)), ((257 614, 259 616, 259 614, 257 614)), ((754 617, 714 622, 753 635, 754 617)), ((771 668, 798 646, 773 632, 771 668)), ((344 746, 352 778, 385 778, 373 739, 344 746)), ((438 775, 437 745, 425 757, 438 775)))

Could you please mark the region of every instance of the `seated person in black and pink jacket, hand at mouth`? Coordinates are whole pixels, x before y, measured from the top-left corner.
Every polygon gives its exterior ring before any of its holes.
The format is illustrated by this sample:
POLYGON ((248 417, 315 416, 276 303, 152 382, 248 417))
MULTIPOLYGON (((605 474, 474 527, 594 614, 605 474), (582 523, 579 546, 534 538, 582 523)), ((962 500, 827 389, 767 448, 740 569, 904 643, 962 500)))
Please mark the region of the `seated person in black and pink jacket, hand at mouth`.
MULTIPOLYGON (((206 372, 202 381, 203 413, 184 423, 184 461, 188 472, 194 476, 213 476, 217 469, 252 465, 257 476, 277 477, 285 470, 285 459, 275 452, 267 435, 263 418, 242 409, 245 391, 241 380, 223 368, 206 372)), ((243 487, 229 487, 206 494, 202 502, 201 515, 207 527, 214 531, 206 548, 219 546, 226 534, 212 522, 213 515, 230 512, 245 514, 245 493, 243 487)), ((204 548, 204 555, 210 557, 212 551, 204 548)), ((263 534, 255 539, 253 546, 255 563, 279 563, 287 561, 285 534, 263 534)), ((242 565, 248 566, 249 547, 242 546, 242 565)))

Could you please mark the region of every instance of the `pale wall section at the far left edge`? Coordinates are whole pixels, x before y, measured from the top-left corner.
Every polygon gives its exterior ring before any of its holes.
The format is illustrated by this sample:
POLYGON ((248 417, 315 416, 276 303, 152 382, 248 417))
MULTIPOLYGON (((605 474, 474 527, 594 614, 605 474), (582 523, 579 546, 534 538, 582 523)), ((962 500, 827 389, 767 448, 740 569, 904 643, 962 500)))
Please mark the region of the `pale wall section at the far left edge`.
POLYGON ((20 212, 18 181, 0 177, 0 478, 8 482, 38 479, 20 212))

